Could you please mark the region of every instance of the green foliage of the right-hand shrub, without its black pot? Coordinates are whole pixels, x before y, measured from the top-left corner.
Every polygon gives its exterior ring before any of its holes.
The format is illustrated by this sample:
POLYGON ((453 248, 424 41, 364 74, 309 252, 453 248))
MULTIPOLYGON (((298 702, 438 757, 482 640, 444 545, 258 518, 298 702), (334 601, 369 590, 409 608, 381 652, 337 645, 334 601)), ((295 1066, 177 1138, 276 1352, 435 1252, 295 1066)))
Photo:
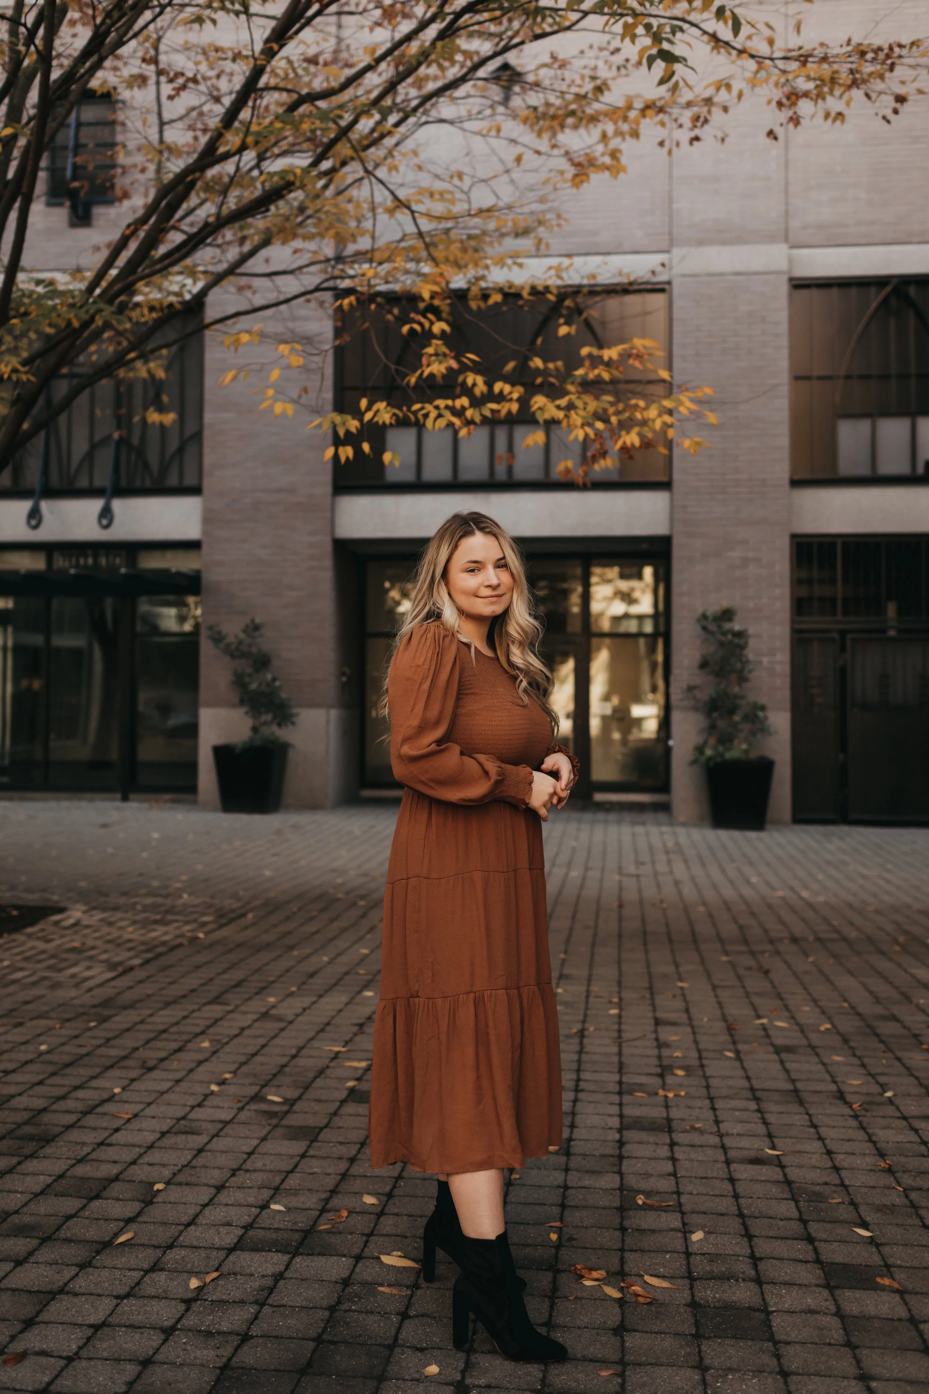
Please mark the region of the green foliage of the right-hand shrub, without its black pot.
POLYGON ((698 668, 709 677, 709 690, 691 683, 687 694, 705 717, 703 739, 694 746, 692 764, 715 765, 721 760, 748 760, 752 743, 770 735, 767 707, 745 693, 752 675, 748 661, 748 630, 735 625, 735 609, 701 611, 696 623, 703 634, 698 668))

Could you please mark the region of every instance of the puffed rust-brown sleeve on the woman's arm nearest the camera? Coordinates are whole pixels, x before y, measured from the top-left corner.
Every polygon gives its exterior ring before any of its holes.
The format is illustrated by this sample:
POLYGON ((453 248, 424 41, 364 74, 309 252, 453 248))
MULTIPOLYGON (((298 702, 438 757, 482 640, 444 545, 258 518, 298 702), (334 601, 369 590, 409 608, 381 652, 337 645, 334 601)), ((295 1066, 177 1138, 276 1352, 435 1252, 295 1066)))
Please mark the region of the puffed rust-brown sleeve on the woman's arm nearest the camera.
POLYGON ((416 625, 390 665, 390 763, 400 783, 444 803, 500 799, 525 809, 528 765, 467 756, 447 740, 458 694, 458 645, 442 623, 416 625))

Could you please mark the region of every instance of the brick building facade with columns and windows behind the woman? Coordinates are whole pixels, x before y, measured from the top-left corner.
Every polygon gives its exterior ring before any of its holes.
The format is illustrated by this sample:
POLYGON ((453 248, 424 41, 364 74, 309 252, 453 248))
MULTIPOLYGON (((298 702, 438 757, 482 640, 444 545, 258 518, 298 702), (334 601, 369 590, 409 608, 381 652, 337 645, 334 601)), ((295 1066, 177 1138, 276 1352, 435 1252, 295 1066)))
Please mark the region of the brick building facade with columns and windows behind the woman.
MULTIPOLYGON (((883 15, 871 0, 816 11, 827 38, 883 15)), ((915 32, 914 3, 894 10, 896 35, 907 24, 915 32)), ((478 446, 407 436, 400 471, 352 475, 323 461, 319 435, 220 389, 227 354, 208 336, 202 401, 191 388, 187 408, 189 478, 170 464, 120 488, 103 530, 99 471, 68 484, 58 461, 39 527, 26 521, 38 464, 7 471, 7 785, 195 788, 214 804, 212 744, 244 725, 202 637, 196 675, 202 594, 203 622, 266 623, 299 711, 286 804, 389 792, 370 708, 404 576, 448 513, 478 507, 521 539, 549 597, 546 643, 588 795, 670 797, 676 818, 706 817, 685 687, 698 611, 734 604, 773 725, 772 818, 929 820, 926 110, 916 99, 886 125, 862 103, 844 127, 774 142, 759 102, 727 118, 721 144, 669 158, 643 141, 624 178, 565 205, 553 255, 596 268, 604 294, 624 294, 627 277, 645 287, 639 308, 648 294, 676 379, 713 386, 720 424, 696 457, 577 491, 543 456, 517 454, 504 471, 517 477, 500 478, 493 445, 485 468, 478 446)), ((33 263, 74 265, 110 217, 99 208, 92 229, 68 227, 63 208, 43 208, 33 263)), ((330 335, 319 321, 284 330, 330 335)))

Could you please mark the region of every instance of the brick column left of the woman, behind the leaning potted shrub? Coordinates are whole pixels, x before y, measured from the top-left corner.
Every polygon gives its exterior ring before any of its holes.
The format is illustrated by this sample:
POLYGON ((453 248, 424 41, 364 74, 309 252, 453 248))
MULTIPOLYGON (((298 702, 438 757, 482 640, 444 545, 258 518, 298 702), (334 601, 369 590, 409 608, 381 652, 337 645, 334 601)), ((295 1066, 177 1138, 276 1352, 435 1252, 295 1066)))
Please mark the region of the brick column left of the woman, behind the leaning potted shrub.
MULTIPOLYGON (((280 316, 242 316, 237 328, 263 318, 262 346, 224 348, 208 335, 203 403, 203 630, 227 631, 255 616, 263 620, 273 668, 299 717, 284 732, 288 757, 284 806, 329 807, 357 789, 358 740, 354 655, 343 652, 337 572, 345 567, 351 594, 351 559, 340 558, 331 539, 331 467, 327 446, 308 432, 312 417, 298 408, 292 420, 259 411, 267 369, 281 362, 279 340, 326 346, 331 326, 312 321, 305 307, 280 316), (245 383, 219 386, 230 367, 252 367, 245 383), (258 389, 258 390, 256 390, 258 389)), ((308 360, 306 379, 312 365, 308 360)), ((329 374, 313 374, 320 400, 329 400, 329 374)), ((306 381, 305 379, 305 381, 306 381)), ((199 802, 216 807, 219 793, 212 746, 238 740, 248 725, 230 683, 231 665, 203 634, 201 648, 199 802)))

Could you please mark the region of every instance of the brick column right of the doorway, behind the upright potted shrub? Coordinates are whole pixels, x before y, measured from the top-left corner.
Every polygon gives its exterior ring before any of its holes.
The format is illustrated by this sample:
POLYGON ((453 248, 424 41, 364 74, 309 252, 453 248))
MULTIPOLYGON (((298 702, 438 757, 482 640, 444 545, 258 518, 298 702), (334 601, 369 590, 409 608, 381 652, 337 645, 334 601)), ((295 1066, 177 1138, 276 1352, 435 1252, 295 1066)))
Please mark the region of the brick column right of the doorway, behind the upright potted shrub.
POLYGON ((674 456, 671 810, 681 822, 709 817, 703 771, 689 764, 701 717, 684 690, 698 680, 695 616, 719 605, 734 605, 749 630, 751 696, 774 728, 759 746, 777 761, 770 821, 791 817, 787 312, 786 270, 674 280, 676 378, 713 386, 720 417, 699 432, 710 449, 674 456))

